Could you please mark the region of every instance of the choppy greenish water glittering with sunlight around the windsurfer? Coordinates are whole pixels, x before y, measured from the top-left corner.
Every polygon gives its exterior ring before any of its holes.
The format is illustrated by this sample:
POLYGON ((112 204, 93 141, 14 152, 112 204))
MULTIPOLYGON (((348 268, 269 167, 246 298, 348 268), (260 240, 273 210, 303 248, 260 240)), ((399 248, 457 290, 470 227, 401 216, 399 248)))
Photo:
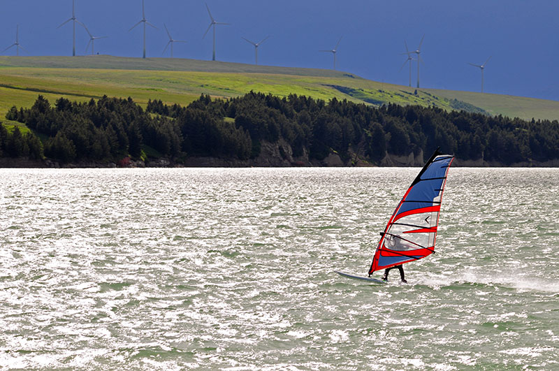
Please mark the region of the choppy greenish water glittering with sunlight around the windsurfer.
POLYGON ((333 273, 417 171, 1 169, 0 368, 559 369, 557 169, 451 168, 409 284, 333 273))

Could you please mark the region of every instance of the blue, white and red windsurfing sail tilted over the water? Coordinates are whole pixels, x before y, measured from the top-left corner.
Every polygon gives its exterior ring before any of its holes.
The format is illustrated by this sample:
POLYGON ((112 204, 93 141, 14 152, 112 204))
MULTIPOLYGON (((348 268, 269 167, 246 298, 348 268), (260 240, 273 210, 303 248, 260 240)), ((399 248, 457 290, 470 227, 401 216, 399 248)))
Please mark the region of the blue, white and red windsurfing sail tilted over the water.
POLYGON ((369 275, 435 252, 442 193, 453 159, 438 149, 428 159, 381 233, 369 275))

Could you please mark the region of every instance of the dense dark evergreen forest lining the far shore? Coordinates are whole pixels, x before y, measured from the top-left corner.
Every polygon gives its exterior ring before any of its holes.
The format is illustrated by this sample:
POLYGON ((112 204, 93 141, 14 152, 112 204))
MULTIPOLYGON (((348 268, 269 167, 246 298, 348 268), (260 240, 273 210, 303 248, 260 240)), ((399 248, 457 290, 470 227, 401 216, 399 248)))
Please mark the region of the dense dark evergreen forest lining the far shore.
POLYGON ((386 153, 429 154, 436 147, 458 159, 522 161, 559 159, 559 123, 525 121, 421 106, 373 107, 350 101, 286 98, 251 92, 233 99, 202 95, 187 107, 132 99, 86 103, 43 96, 31 108, 12 107, 6 118, 31 131, 0 125, 0 157, 48 158, 60 163, 119 161, 126 157, 249 160, 262 143, 288 143, 293 158, 320 161, 328 154, 358 153, 379 163, 386 153), (147 154, 146 154, 147 153, 147 154))

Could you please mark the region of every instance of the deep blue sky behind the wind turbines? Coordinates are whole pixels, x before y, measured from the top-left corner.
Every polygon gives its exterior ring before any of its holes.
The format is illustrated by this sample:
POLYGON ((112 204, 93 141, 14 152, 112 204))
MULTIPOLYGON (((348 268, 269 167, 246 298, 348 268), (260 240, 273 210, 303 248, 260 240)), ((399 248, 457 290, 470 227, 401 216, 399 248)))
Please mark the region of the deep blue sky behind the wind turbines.
MULTIPOLYGON (((559 100, 559 1, 554 0, 208 0, 217 22, 217 59, 254 63, 254 47, 242 40, 270 38, 259 48, 259 64, 332 68, 371 80, 407 85, 404 41, 421 47, 421 87, 479 91, 559 100)), ((15 41, 20 24, 22 55, 71 55, 71 0, 0 0, 0 50, 15 41)), ((175 57, 212 57, 210 17, 200 0, 145 0, 149 22, 147 57, 162 57, 168 36, 175 57)), ((96 52, 141 57, 142 29, 128 31, 142 17, 141 0, 76 0, 76 17, 94 36, 96 52)), ((85 54, 89 37, 76 29, 76 52, 85 54)), ((15 48, 3 55, 15 55, 15 48)), ((168 51, 165 54, 168 56, 168 51)), ((415 85, 416 65, 412 80, 415 85)))

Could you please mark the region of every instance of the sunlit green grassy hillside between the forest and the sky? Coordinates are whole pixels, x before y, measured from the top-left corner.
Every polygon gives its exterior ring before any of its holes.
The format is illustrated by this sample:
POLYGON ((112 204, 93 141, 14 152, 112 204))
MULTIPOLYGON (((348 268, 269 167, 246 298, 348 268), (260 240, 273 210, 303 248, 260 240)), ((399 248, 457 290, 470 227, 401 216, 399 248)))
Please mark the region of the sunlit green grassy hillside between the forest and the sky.
POLYGON ((524 119, 559 119, 557 101, 439 89, 416 91, 332 70, 102 55, 0 57, 0 119, 3 121, 11 106, 29 107, 38 94, 52 103, 60 96, 87 101, 106 94, 131 96, 142 105, 148 99, 184 105, 202 93, 231 97, 251 90, 278 96, 298 94, 325 100, 335 97, 375 105, 419 104, 524 119))

